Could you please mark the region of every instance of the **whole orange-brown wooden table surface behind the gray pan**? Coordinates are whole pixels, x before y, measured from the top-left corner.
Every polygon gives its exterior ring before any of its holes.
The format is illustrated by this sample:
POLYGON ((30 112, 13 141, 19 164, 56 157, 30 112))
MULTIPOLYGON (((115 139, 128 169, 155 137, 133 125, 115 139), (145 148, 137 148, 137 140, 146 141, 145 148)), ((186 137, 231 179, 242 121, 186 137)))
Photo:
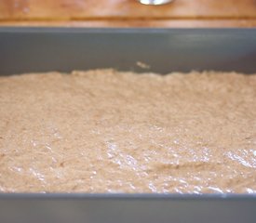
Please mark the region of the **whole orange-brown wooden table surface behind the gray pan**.
POLYGON ((255 27, 255 0, 1 0, 2 26, 255 27))

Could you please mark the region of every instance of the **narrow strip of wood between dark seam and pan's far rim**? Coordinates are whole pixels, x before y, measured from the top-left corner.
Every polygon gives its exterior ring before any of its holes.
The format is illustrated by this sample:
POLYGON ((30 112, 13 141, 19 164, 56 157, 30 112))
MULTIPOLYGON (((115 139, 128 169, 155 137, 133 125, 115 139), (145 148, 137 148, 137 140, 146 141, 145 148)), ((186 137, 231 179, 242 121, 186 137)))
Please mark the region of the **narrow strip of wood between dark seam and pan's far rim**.
POLYGON ((256 27, 256 20, 85 20, 2 21, 0 26, 104 27, 104 28, 237 28, 256 27))

